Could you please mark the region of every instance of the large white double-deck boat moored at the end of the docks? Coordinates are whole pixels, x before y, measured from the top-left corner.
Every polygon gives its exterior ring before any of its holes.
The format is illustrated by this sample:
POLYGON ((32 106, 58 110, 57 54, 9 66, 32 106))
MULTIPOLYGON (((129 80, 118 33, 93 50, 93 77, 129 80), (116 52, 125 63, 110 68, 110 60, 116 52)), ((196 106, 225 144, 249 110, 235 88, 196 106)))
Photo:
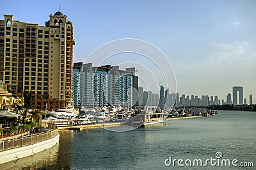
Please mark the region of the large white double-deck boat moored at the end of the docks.
POLYGON ((154 125, 158 123, 164 123, 165 118, 163 112, 156 106, 148 106, 145 111, 141 111, 140 114, 132 118, 131 125, 154 125))

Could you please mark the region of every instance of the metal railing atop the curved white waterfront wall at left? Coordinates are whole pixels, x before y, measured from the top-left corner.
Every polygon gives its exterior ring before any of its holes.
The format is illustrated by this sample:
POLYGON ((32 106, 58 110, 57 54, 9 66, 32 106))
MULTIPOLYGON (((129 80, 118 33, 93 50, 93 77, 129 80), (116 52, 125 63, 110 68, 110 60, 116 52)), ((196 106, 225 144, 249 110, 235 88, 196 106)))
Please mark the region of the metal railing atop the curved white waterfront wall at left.
POLYGON ((14 148, 20 148, 22 146, 28 146, 31 144, 39 143, 47 139, 51 139, 58 134, 58 129, 49 130, 47 132, 41 132, 34 135, 17 137, 15 139, 0 141, 0 151, 11 150, 14 148))

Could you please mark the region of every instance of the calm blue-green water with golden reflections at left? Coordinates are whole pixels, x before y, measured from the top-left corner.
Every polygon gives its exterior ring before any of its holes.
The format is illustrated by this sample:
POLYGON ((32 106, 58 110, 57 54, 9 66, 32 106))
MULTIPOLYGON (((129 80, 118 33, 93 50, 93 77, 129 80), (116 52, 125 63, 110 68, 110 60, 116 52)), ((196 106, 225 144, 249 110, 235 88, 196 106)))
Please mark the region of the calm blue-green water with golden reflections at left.
MULTIPOLYGON (((237 163, 237 164, 238 164, 237 163)), ((184 162, 183 162, 184 164, 184 162)), ((256 169, 256 112, 218 111, 216 116, 111 132, 102 128, 60 131, 60 143, 0 169, 256 169), (254 167, 167 167, 164 160, 236 158, 254 167)))

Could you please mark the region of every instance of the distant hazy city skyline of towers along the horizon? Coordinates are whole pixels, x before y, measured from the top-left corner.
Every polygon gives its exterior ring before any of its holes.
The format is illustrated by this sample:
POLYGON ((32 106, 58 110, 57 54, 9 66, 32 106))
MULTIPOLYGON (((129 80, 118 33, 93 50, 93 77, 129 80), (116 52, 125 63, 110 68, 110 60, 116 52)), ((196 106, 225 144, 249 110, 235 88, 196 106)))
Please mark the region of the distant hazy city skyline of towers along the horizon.
POLYGON ((185 95, 184 93, 169 93, 168 88, 164 88, 161 85, 159 93, 153 93, 152 91, 143 91, 143 87, 138 87, 139 98, 138 100, 144 100, 143 104, 139 102, 139 105, 158 105, 163 107, 174 106, 208 106, 208 105, 253 105, 253 96, 250 94, 248 97, 243 96, 243 87, 233 86, 232 94, 227 93, 226 98, 219 98, 218 95, 185 95), (164 94, 163 94, 164 91, 164 94), (239 93, 238 93, 239 92, 239 93), (237 96, 238 94, 238 96, 237 96), (159 98, 160 96, 160 98, 159 98), (161 97, 162 96, 162 97, 161 97), (146 99, 144 99, 146 98, 146 99), (175 100, 176 98, 176 100, 175 100), (197 100, 197 101, 196 101, 197 100), (202 103, 200 103, 202 102, 202 103), (178 103, 178 104, 177 104, 178 103))

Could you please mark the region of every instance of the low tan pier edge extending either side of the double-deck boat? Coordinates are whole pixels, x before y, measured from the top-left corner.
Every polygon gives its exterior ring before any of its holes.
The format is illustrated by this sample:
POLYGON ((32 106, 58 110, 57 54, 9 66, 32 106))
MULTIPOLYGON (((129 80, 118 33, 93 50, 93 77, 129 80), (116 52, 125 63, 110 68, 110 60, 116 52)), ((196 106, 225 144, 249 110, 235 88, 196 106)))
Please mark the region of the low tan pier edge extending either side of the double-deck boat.
MULTIPOLYGON (((185 120, 185 119, 191 119, 191 118, 201 118, 202 115, 198 116, 184 116, 179 118, 168 118, 167 121, 172 120, 185 120)), ((76 125, 76 126, 63 126, 58 127, 58 130, 85 130, 90 128, 101 128, 101 127, 119 127, 122 124, 125 124, 124 122, 113 122, 113 123, 97 123, 97 124, 89 124, 89 125, 76 125)))

